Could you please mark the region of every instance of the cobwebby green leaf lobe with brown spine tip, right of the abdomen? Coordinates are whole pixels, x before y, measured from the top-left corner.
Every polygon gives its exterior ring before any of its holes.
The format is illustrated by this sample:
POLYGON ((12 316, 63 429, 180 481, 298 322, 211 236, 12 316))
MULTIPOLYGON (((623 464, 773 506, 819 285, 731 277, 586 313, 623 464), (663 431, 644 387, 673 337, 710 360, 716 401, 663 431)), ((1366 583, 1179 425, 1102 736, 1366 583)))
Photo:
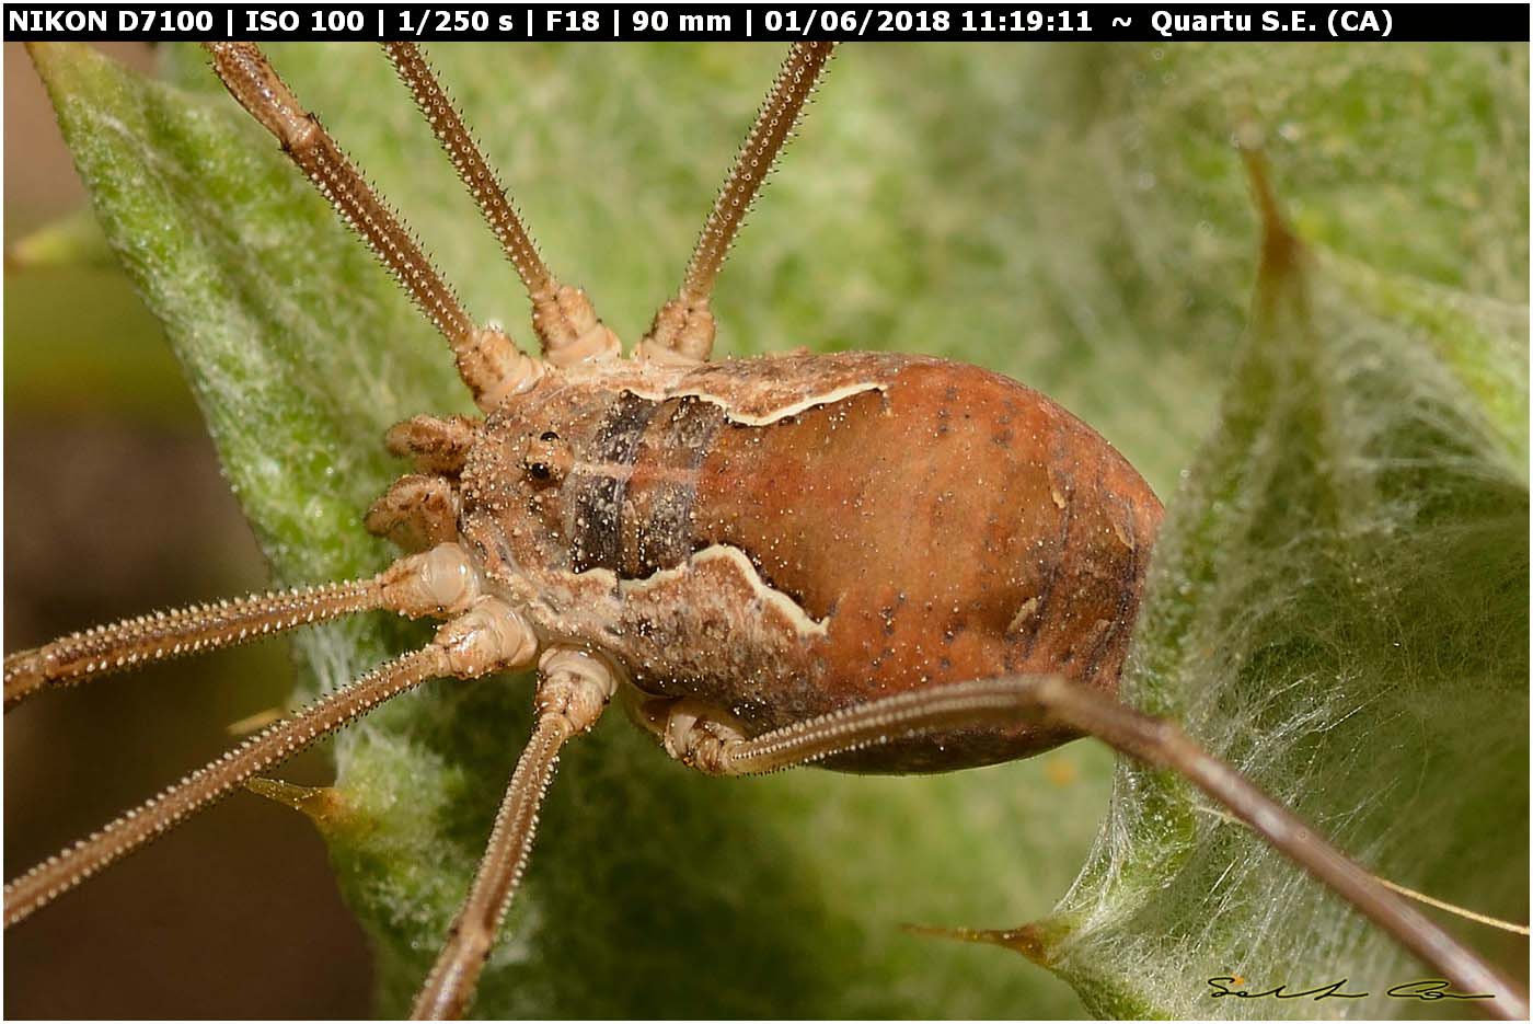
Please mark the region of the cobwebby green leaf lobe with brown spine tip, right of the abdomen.
MULTIPOLYGON (((1525 920, 1527 313, 1380 282, 1272 231, 1251 342, 1162 529, 1127 697, 1375 874, 1525 920)), ((1216 1006, 1216 976, 1351 978, 1380 993, 1351 1012, 1393 1015, 1381 992, 1424 970, 1136 765, 1036 930, 1032 955, 1104 1016, 1314 1012, 1216 1006)))

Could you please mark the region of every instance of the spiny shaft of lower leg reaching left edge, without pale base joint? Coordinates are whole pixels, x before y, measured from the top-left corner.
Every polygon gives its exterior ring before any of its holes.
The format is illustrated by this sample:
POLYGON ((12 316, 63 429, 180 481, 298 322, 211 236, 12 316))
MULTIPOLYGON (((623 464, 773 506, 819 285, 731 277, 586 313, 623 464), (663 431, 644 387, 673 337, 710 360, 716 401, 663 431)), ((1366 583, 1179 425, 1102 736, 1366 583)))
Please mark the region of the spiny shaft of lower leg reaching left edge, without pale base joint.
POLYGON ((9 883, 5 888, 5 926, 25 921, 103 868, 224 799, 256 773, 279 765, 325 736, 351 725, 385 701, 449 673, 446 650, 431 644, 380 665, 343 690, 320 697, 291 719, 271 725, 9 883))

